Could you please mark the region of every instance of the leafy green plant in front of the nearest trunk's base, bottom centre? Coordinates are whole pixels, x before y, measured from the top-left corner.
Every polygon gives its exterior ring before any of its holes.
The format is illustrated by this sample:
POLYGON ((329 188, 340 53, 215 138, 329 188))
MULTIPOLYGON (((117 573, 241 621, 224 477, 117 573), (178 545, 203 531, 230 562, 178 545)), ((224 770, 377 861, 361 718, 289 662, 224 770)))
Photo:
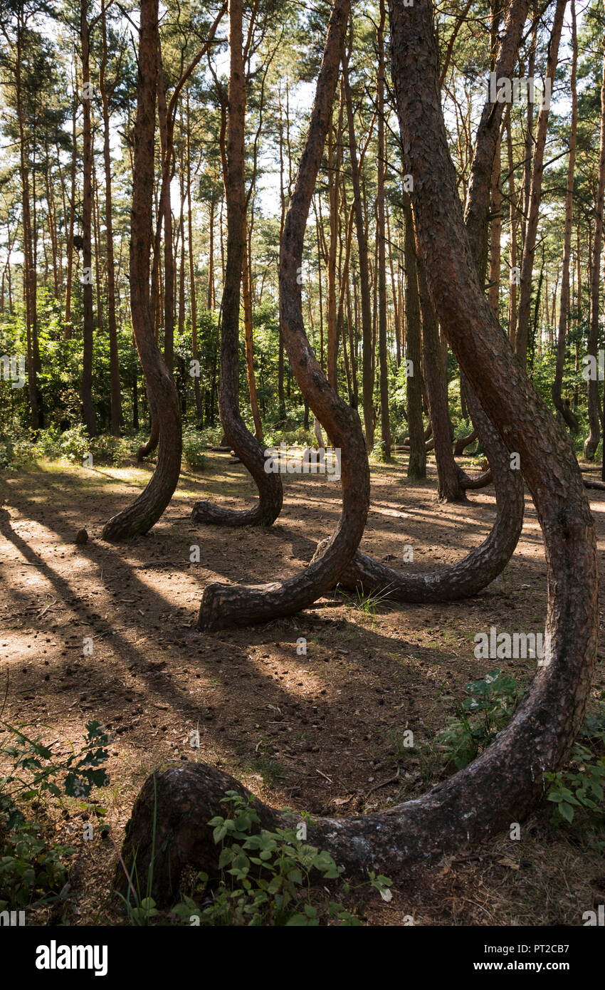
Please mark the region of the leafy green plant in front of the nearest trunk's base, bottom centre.
MULTIPOLYGON (((177 918, 201 925, 317 927, 322 917, 341 926, 360 926, 358 918, 341 904, 330 901, 323 916, 311 903, 311 876, 339 880, 347 894, 351 887, 341 879, 343 868, 331 855, 307 844, 299 829, 258 829, 260 820, 252 805, 236 791, 227 791, 223 803, 229 817, 217 815, 209 825, 220 844, 220 880, 211 890, 205 873, 198 874, 191 890, 173 909, 177 918), (256 831, 255 831, 256 830, 256 831), (198 901, 207 903, 199 907, 198 901)), ((391 881, 369 874, 369 883, 389 901, 391 881)))

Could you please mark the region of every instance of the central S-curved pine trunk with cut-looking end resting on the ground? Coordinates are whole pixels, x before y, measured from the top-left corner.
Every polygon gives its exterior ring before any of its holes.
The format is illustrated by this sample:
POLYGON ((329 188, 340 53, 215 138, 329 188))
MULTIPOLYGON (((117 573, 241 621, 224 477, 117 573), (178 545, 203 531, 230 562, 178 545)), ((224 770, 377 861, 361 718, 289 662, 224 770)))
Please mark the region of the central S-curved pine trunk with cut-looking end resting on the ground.
POLYGON ((292 615, 330 588, 362 538, 370 504, 370 469, 361 421, 327 382, 306 338, 302 322, 304 230, 336 90, 350 0, 335 0, 317 79, 315 101, 301 165, 284 227, 280 256, 280 307, 284 343, 302 393, 316 418, 341 450, 342 516, 323 552, 300 574, 266 585, 214 584, 206 588, 198 626, 266 622, 292 615))

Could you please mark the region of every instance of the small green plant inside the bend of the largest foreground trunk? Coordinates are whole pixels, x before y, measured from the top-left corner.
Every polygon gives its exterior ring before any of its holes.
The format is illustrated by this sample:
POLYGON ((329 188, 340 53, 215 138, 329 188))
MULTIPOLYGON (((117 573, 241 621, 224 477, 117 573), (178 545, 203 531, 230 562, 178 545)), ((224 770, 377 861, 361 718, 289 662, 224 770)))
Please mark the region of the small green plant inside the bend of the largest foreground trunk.
POLYGON ((521 696, 514 677, 492 670, 482 680, 466 685, 469 697, 455 701, 456 716, 437 734, 446 764, 462 770, 482 752, 506 725, 521 696))

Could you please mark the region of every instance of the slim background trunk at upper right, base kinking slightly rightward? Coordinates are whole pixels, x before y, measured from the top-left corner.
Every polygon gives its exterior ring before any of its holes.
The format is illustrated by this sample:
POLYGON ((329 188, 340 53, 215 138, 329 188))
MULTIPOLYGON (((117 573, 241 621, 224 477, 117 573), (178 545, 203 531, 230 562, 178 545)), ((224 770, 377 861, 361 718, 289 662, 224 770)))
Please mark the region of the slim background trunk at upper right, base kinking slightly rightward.
MULTIPOLYGON (((575 0, 571 0, 571 124, 569 128, 569 159, 567 162, 567 188, 565 190, 565 228, 563 235, 561 308, 559 312, 559 335, 557 338, 557 365, 555 381, 551 388, 553 404, 559 410, 569 430, 579 429, 579 423, 569 406, 562 401, 562 374, 565 360, 565 338, 567 334, 567 319, 569 314, 569 259, 571 256, 571 222, 573 220, 573 174, 575 167, 575 139, 577 132, 577 87, 575 83, 577 69, 577 33, 575 26, 575 0)), ((555 293, 557 298, 557 293, 555 293)), ((555 314, 553 314, 553 323, 555 314)))

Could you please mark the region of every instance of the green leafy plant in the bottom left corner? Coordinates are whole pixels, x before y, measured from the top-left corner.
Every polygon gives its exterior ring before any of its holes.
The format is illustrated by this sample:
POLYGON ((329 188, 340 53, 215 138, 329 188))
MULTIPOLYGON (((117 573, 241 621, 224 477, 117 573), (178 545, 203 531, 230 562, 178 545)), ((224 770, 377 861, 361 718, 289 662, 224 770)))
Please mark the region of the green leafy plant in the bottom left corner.
POLYGON ((39 811, 45 796, 61 799, 88 797, 93 787, 104 787, 109 777, 108 738, 98 722, 86 725, 84 744, 72 746, 68 756, 54 755, 56 743, 44 745, 24 729, 0 723, 0 757, 11 769, 0 776, 0 910, 38 906, 54 900, 66 877, 67 845, 54 844, 43 825, 26 814, 28 804, 39 811))

